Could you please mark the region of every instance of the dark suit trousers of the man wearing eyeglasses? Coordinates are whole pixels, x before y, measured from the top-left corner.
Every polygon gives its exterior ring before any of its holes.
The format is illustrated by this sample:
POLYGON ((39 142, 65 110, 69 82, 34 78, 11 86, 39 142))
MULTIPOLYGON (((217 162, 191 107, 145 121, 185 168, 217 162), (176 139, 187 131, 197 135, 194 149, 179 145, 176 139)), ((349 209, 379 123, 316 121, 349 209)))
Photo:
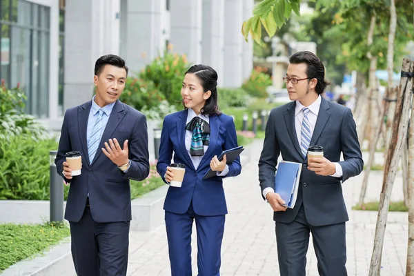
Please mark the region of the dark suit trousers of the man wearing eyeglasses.
POLYGON ((281 276, 305 276, 309 233, 317 257, 317 270, 322 276, 346 276, 345 222, 327 226, 311 226, 304 206, 290 224, 276 222, 277 255, 281 276))

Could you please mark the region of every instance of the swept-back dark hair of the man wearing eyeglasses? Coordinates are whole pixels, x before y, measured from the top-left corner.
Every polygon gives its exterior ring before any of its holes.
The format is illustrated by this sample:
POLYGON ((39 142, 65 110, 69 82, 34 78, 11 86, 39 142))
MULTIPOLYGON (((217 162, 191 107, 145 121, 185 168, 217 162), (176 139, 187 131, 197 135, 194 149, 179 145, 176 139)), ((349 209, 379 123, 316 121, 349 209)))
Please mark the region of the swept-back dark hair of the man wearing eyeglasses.
MULTIPOLYGON (((325 66, 324 63, 313 52, 302 51, 295 52, 289 58, 289 62, 293 64, 306 63, 306 75, 309 79, 317 79, 315 91, 317 94, 322 94, 329 84, 329 81, 325 80, 325 66)), ((309 81, 308 79, 308 81, 309 81)))

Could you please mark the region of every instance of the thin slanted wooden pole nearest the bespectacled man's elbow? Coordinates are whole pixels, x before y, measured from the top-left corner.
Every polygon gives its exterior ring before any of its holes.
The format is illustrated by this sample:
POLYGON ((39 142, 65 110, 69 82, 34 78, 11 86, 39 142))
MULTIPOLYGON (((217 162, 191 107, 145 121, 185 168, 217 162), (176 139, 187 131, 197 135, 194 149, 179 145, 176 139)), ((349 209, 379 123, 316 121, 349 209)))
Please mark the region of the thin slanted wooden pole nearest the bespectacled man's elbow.
POLYGON ((358 201, 359 206, 362 206, 362 204, 364 204, 366 188, 368 187, 369 173, 371 172, 371 166, 373 166, 373 162, 374 162, 375 146, 377 145, 377 141, 380 139, 380 135, 382 131, 382 121, 384 121, 386 110, 388 110, 388 101, 386 101, 386 98, 389 92, 390 92, 389 89, 387 89, 385 92, 384 98, 382 99, 382 111, 380 115, 380 121, 378 121, 378 125, 375 128, 375 137, 373 137, 373 143, 369 144, 369 159, 368 159, 368 164, 366 164, 366 168, 364 170, 364 180, 362 181, 361 193, 359 194, 359 201, 358 201))

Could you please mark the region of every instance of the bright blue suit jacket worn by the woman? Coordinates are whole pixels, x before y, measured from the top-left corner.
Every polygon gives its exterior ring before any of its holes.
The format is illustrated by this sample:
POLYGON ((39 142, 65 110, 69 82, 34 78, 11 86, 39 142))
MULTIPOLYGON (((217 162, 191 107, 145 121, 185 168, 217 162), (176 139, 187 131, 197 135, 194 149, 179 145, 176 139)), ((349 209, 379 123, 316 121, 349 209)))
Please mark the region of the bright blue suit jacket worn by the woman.
MULTIPOLYGON (((203 176, 210 168, 210 160, 215 155, 218 157, 223 150, 237 147, 233 118, 224 114, 210 115, 210 144, 208 150, 204 152, 204 157, 197 170, 195 170, 185 144, 187 115, 188 110, 183 110, 164 118, 157 171, 164 179, 167 166, 171 164, 172 152, 174 152, 175 163, 186 165, 182 186, 168 188, 164 210, 184 214, 193 199, 193 208, 197 215, 225 215, 227 205, 223 189, 224 177, 216 176, 203 180, 203 176)), ((228 174, 225 177, 239 175, 242 170, 239 157, 228 165, 228 169, 228 174)))

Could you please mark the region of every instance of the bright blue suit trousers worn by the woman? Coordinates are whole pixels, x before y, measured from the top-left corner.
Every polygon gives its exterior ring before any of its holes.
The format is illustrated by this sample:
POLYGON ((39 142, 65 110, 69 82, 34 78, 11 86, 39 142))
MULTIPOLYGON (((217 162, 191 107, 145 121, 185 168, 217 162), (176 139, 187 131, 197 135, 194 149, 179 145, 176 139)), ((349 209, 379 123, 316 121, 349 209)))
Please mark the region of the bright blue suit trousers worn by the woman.
POLYGON ((200 216, 190 204, 184 214, 166 211, 168 253, 172 276, 191 276, 191 233, 193 220, 197 230, 197 267, 199 276, 219 276, 221 242, 225 215, 200 216))

